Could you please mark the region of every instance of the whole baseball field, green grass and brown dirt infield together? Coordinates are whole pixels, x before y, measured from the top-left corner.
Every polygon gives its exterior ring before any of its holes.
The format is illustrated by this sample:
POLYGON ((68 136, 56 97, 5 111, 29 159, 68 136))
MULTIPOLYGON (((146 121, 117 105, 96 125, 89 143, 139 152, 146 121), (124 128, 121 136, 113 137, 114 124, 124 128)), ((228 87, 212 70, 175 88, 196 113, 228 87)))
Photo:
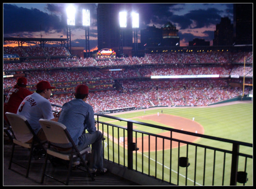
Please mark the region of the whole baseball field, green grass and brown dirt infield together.
MULTIPOLYGON (((162 107, 162 108, 148 108, 144 110, 135 110, 125 113, 114 113, 110 114, 115 117, 121 117, 131 119, 135 121, 141 121, 145 123, 151 123, 154 125, 160 125, 163 127, 171 127, 178 130, 185 130, 189 132, 195 132, 199 134, 205 134, 208 136, 215 136, 219 138, 226 138, 230 140, 236 140, 241 142, 253 142, 253 103, 252 101, 236 101, 232 103, 225 103, 213 106, 205 107, 162 107)), ((107 123, 120 125, 126 127, 126 122, 116 121, 100 117, 100 121, 107 123)), ((154 133, 165 136, 169 132, 163 129, 156 129, 152 127, 146 127, 143 125, 133 125, 135 130, 143 132, 154 133)), ((108 154, 108 159, 117 161, 118 153, 120 157, 126 152, 126 147, 123 145, 123 141, 126 144, 126 135, 122 138, 123 132, 117 132, 117 128, 107 128, 104 126, 104 134, 108 130, 108 141, 105 141, 104 154, 105 158, 108 154), (113 137, 112 137, 113 133, 113 137), (119 134, 117 134, 119 133, 119 134), (113 141, 114 138, 114 142, 113 141), (122 140, 120 140, 122 138, 122 140), (117 143, 119 140, 119 147, 117 143), (110 142, 111 141, 111 142, 110 142), (124 147, 124 148, 123 148, 124 147), (114 148, 114 153, 113 153, 114 148), (117 151, 119 149, 119 152, 117 151), (124 150, 125 149, 125 150, 124 150)), ((135 135, 134 135, 135 137, 135 135)), ((134 165, 138 171, 156 176, 157 178, 165 181, 171 181, 171 183, 178 185, 229 185, 230 183, 230 166, 231 166, 231 155, 228 153, 222 153, 219 151, 207 150, 206 162, 204 162, 205 150, 202 148, 196 148, 186 144, 173 143, 172 146, 169 143, 159 141, 155 142, 150 140, 149 145, 145 145, 148 136, 143 136, 144 145, 143 153, 141 153, 142 144, 140 142, 141 134, 137 134, 137 157, 134 155, 134 159, 137 159, 137 164, 134 165), (156 147, 156 145, 158 147, 156 147), (180 145, 180 148, 178 148, 180 145), (171 148, 172 147, 172 148, 171 148), (151 149, 152 148, 152 149, 151 149), (155 150, 157 149, 157 151, 155 150), (164 150, 164 157, 162 151, 164 150), (195 156, 197 151, 197 156, 195 156), (190 166, 186 168, 178 168, 178 153, 180 156, 186 156, 188 153, 190 166), (169 155, 168 155, 169 154, 169 155), (223 160, 224 156, 224 160, 223 160), (171 157, 171 162, 170 162, 171 157), (196 161, 195 161, 196 159, 196 161), (215 161, 214 161, 215 160, 215 161), (196 165, 195 165, 195 162, 196 165), (214 163, 213 163, 214 162, 214 163), (223 166, 225 164, 225 166, 223 166), (205 166, 205 170, 202 168, 205 166), (150 168, 149 168, 150 167, 150 168), (195 169, 196 167, 196 169, 195 169), (223 168, 224 167, 224 168, 223 168), (178 170, 179 169, 179 170, 178 170), (196 170, 196 172, 195 172, 196 170), (179 172, 179 174, 178 174, 179 172), (196 175, 196 176, 195 176, 196 175), (204 176, 205 175, 205 176, 204 176), (224 179, 223 178, 224 175, 224 179), (187 176, 187 181, 185 177, 187 176), (196 179, 196 180, 195 180, 196 179), (178 180, 178 181, 177 181, 178 180)), ((217 147, 219 149, 226 149, 231 151, 232 145, 226 142, 218 142, 214 140, 208 140, 193 136, 189 138, 188 135, 180 134, 175 136, 180 140, 186 140, 189 142, 195 142, 210 147, 217 147), (183 137, 183 138, 182 138, 183 137)), ((135 139, 134 139, 135 140, 135 139)), ((241 146, 239 152, 252 155, 253 149, 249 147, 241 146)), ((127 160, 119 160, 120 164, 126 164, 127 160)), ((253 183, 253 169, 252 159, 241 157, 239 159, 238 171, 245 170, 246 161, 246 172, 248 181, 245 183, 246 186, 252 185, 253 183)), ((237 183, 237 185, 243 185, 237 183)))

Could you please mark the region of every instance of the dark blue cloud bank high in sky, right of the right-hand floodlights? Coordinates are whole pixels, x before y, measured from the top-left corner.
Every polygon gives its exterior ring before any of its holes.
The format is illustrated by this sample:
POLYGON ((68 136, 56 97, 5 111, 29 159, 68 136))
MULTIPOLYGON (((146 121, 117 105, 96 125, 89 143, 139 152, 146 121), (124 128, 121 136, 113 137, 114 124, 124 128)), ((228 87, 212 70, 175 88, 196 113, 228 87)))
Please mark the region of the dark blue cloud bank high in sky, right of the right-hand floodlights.
MULTIPOLYGON (((168 21, 171 23, 178 23, 181 30, 189 28, 203 28, 219 23, 221 20, 221 13, 223 13, 223 11, 219 11, 216 8, 208 8, 206 10, 193 10, 180 16, 174 15, 172 11, 183 11, 184 6, 182 5, 185 4, 180 4, 181 6, 178 8, 175 8, 174 5, 176 4, 134 4, 134 6, 139 10, 140 20, 142 21, 140 26, 144 28, 150 23, 164 25, 168 21)), ((223 4, 223 6, 227 6, 227 4, 223 4)), ((228 4, 227 7, 226 15, 228 17, 232 17, 233 4, 228 4)))

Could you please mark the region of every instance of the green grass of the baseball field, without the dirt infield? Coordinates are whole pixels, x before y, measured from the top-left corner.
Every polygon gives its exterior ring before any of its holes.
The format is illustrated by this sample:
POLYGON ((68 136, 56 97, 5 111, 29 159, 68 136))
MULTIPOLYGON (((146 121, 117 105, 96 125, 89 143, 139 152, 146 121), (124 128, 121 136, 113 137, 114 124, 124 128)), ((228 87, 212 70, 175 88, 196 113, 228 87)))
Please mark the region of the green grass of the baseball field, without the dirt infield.
MULTIPOLYGON (((145 112, 144 110, 141 110, 141 111, 130 112, 125 114, 122 113, 122 114, 113 115, 113 116, 166 126, 166 125, 155 123, 152 121, 145 121, 145 120, 140 120, 138 118, 135 118, 139 116, 156 114, 157 112, 161 112, 161 110, 163 110, 163 113, 165 114, 185 117, 191 120, 193 117, 195 117, 195 121, 197 121, 204 127, 204 134, 206 135, 252 143, 252 140, 253 140, 253 104, 252 103, 231 104, 231 105, 220 106, 220 107, 207 106, 203 108, 158 108, 158 109, 149 108, 149 109, 146 109, 145 112)), ((100 121, 107 122, 107 121, 111 121, 111 119, 100 118, 100 121)), ((113 124, 126 126, 126 122, 124 121, 113 122, 113 124)), ((106 131, 106 128, 104 128, 104 130, 106 131)), ((161 132, 160 130, 156 130, 150 127, 136 128, 136 130, 144 130, 144 131, 146 130, 146 132, 150 132, 150 133, 161 132)), ((112 131, 110 133, 112 134, 112 131)), ((117 131, 114 130, 114 136, 116 134, 117 134, 117 131)), ((232 146, 230 144, 226 144, 224 142, 213 142, 213 140, 208 140, 203 138, 201 138, 200 140, 197 140, 196 143, 204 144, 207 146, 218 147, 221 149, 227 149, 227 150, 232 149, 232 146)), ((107 152, 106 149, 104 153, 109 153, 110 157, 113 158, 113 155, 112 155, 113 152, 111 152, 111 148, 113 148, 113 145, 109 144, 108 150, 110 151, 110 153, 109 151, 107 152)), ((117 144, 114 144, 114 148, 115 148, 114 156, 116 159, 117 144)), ((121 156, 124 153, 123 152, 124 149, 122 147, 119 147, 119 148, 120 148, 119 153, 121 156)), ((180 154, 186 155, 186 150, 187 150, 186 146, 181 147, 180 154)), ((197 153, 204 154, 204 149, 197 148, 196 150, 197 150, 197 153)), ((240 152, 252 155, 252 148, 240 147, 240 152)), ((156 174, 158 178, 162 178, 162 170, 164 169, 165 180, 169 181, 169 179, 171 178, 171 183, 176 183, 177 179, 179 179, 179 185, 185 185, 184 175, 186 175, 186 172, 185 172, 186 169, 179 168, 180 175, 178 176, 177 166, 175 166, 175 164, 170 165, 171 162, 178 161, 178 155, 174 155, 174 154, 178 154, 178 149, 165 150, 165 154, 168 154, 168 153, 169 153, 169 157, 168 155, 165 155, 164 160, 162 160, 163 157, 162 157, 161 151, 158 151, 157 154, 153 152, 151 152, 150 154, 144 153, 144 157, 142 157, 138 153, 137 169, 141 172, 143 171, 147 174, 149 173, 150 175, 154 176, 155 175, 154 168, 156 166, 157 167, 156 174), (171 155, 172 155, 172 159, 170 162, 171 155), (150 158, 148 158, 148 156, 150 156, 150 158), (155 161, 155 158, 157 159, 156 161, 155 161), (145 161, 143 162, 143 167, 141 165, 142 159, 143 161, 145 161), (163 167, 162 164, 164 164, 165 166, 163 167), (150 165, 150 170, 148 170, 149 165, 150 165)), ((189 147, 189 154, 190 154, 189 162, 191 163, 191 166, 193 166, 193 169, 194 169, 195 164, 193 164, 193 162, 195 162, 195 157, 193 154, 195 154, 195 147, 189 147)), ((196 185, 203 185, 203 184, 212 185, 213 180, 214 180, 214 185, 222 185, 221 179, 222 179, 223 163, 224 163, 222 160, 223 156, 224 156, 224 153, 221 153, 221 152, 214 153, 214 151, 209 151, 207 153, 206 172, 205 172, 207 178, 205 181, 203 181, 202 179, 203 178, 202 167, 204 166, 202 164, 203 156, 196 157, 197 158, 197 165, 196 165, 197 172, 196 172, 196 181, 195 181, 196 185), (215 167, 213 168, 214 157, 216 158, 216 164, 215 164, 215 167), (214 175, 213 175, 213 171, 215 172, 214 175)), ((225 161, 225 178, 226 179, 224 181, 224 185, 229 185, 231 156, 229 154, 225 154, 225 156, 226 156, 226 161, 225 161)), ((244 161, 245 161, 244 158, 239 159, 238 171, 244 170, 244 161)), ((120 164, 124 164, 124 162, 121 160, 120 164)), ((187 181, 187 185, 194 184, 193 182, 194 182, 195 173, 191 171, 193 169, 188 168, 187 174, 188 174, 189 180, 187 181)), ((249 178, 246 185, 252 185, 252 182, 253 182, 252 181, 253 180, 252 159, 247 159, 246 172, 248 173, 247 178, 249 178)), ((242 184, 237 183, 237 185, 242 185, 242 184)))

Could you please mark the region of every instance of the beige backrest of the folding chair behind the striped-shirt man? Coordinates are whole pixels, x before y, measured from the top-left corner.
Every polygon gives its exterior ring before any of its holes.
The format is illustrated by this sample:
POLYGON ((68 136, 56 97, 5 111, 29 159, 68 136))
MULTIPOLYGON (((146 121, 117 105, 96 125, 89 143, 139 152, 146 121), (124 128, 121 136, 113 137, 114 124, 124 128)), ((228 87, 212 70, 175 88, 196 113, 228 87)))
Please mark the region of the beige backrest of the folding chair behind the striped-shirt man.
POLYGON ((62 144, 70 142, 67 134, 65 133, 66 126, 62 123, 48 119, 39 119, 39 123, 43 128, 43 132, 46 134, 46 138, 49 142, 62 144))

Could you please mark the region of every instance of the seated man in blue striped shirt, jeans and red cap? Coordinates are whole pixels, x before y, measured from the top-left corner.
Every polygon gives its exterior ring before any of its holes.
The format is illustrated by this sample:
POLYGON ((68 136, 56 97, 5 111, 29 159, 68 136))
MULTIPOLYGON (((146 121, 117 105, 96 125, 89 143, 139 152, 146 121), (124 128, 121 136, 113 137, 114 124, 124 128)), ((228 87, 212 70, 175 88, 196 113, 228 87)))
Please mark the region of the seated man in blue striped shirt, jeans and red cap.
MULTIPOLYGON (((89 168, 91 172, 105 173, 103 168, 102 133, 96 130, 94 111, 90 104, 85 101, 88 98, 89 88, 87 85, 78 85, 75 90, 75 98, 66 102, 59 117, 59 123, 67 127, 71 138, 78 150, 85 149, 91 144, 89 168), (84 131, 88 132, 85 133, 84 131)), ((71 144, 56 144, 68 151, 71 144)))

